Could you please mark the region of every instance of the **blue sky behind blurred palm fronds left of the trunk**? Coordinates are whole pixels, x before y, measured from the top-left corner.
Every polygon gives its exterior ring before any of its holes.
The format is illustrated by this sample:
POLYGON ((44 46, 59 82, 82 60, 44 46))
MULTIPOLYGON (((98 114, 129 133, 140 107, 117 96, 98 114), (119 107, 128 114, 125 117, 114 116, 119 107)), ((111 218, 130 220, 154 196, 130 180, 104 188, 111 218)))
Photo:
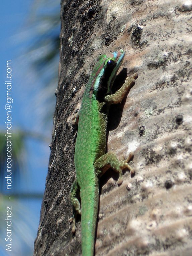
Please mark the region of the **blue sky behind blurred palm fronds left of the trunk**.
MULTIPOLYGON (((31 10, 34 10, 34 1, 2 2, 0 8, 0 130, 6 128, 4 124, 6 121, 6 61, 12 60, 12 97, 14 100, 12 104, 12 132, 17 131, 17 129, 35 131, 46 136, 51 142, 52 120, 50 118, 45 123, 44 114, 47 106, 41 97, 44 81, 31 67, 34 53, 32 51, 27 53, 29 47, 33 45, 32 38, 35 36, 35 28, 29 26, 31 10), (31 33, 33 33, 33 36, 31 36, 31 33)), ((59 1, 57 8, 59 15, 59 1)), ((56 87, 57 84, 53 84, 53 92, 51 91, 51 93, 54 94, 56 87)), ((53 105, 51 109, 54 112, 53 105)), ((50 154, 48 145, 48 141, 45 143, 32 138, 26 140, 26 151, 23 152, 22 156, 25 162, 25 172, 21 173, 19 182, 12 184, 12 193, 44 193, 50 154)), ((14 170, 12 171, 14 172, 14 170)), ((12 251, 9 253, 5 251, 6 242, 4 238, 6 232, 2 228, 5 223, 0 224, 1 256, 32 255, 33 243, 39 224, 41 202, 42 199, 21 199, 19 201, 5 201, 0 205, 5 217, 6 203, 11 203, 14 208, 12 251)))

